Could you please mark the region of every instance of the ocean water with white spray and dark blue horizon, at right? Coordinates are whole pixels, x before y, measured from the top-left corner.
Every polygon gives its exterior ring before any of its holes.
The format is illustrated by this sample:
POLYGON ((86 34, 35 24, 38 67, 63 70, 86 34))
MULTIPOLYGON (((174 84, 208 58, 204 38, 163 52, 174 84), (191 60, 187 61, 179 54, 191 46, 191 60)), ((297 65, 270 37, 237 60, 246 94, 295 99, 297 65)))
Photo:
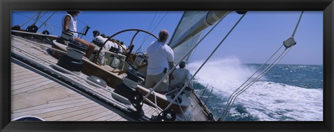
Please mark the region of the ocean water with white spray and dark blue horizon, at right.
MULTIPOLYGON (((194 74, 201 64, 187 68, 194 74)), ((193 85, 218 119, 232 92, 259 67, 237 59, 216 60, 202 67, 193 85)), ((275 65, 237 97, 225 120, 323 121, 323 85, 323 65, 275 65)))

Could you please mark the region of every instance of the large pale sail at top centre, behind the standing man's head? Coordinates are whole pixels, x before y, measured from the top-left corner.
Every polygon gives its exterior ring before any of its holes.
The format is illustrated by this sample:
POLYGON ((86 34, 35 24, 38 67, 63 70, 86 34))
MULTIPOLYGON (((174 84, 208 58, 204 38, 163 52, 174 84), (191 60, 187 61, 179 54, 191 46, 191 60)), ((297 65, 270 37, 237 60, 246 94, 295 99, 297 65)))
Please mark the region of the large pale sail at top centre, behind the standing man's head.
MULTIPOLYGON (((174 51, 177 63, 198 42, 202 31, 212 26, 229 11, 186 11, 168 44, 174 51)), ((184 60, 188 60, 187 56, 184 60)))

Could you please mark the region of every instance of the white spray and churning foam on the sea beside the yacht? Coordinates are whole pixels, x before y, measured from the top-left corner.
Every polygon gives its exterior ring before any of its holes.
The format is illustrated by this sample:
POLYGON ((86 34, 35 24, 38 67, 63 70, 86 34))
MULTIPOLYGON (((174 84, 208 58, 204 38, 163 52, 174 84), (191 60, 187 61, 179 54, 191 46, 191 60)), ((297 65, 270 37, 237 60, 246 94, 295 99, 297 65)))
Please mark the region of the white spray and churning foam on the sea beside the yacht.
MULTIPOLYGON (((194 74, 201 64, 202 62, 189 63, 188 69, 194 74)), ((203 85, 209 84, 214 87, 214 94, 217 96, 228 98, 256 70, 241 64, 237 58, 224 58, 209 61, 195 78, 203 85)), ((256 76, 255 74, 253 78, 256 76)), ((323 120, 322 89, 275 83, 267 81, 265 76, 240 94, 234 104, 243 105, 250 115, 263 121, 323 120)))

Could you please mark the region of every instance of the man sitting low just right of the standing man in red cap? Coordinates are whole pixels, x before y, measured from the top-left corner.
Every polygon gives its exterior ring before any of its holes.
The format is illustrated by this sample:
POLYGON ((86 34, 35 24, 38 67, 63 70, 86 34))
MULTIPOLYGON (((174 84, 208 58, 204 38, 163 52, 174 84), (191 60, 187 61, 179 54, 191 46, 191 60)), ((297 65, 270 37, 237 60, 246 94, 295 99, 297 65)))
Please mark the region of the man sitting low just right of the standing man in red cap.
MULTIPOLYGON (((183 85, 191 79, 191 74, 188 69, 185 69, 186 63, 182 61, 179 64, 179 69, 175 69, 173 71, 173 77, 174 79, 170 81, 170 88, 175 89, 175 88, 182 88, 183 85)), ((189 83, 189 88, 193 89, 193 86, 191 83, 189 83)))

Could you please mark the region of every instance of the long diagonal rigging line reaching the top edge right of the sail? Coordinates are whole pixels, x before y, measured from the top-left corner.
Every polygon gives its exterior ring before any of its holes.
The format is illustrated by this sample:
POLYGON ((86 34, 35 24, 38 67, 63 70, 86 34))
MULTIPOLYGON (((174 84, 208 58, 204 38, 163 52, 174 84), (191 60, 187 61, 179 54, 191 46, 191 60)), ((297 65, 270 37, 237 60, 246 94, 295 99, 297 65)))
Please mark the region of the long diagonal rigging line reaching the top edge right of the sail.
MULTIPOLYGON (((198 68, 198 70, 196 71, 196 73, 193 74, 193 76, 191 77, 191 79, 193 79, 193 77, 196 76, 196 74, 200 71, 200 69, 202 69, 202 67, 205 65, 205 63, 207 63, 207 61, 212 57, 212 55, 214 55, 214 53, 216 52, 216 50, 218 49, 218 47, 220 47, 221 44, 223 44, 223 42, 226 40, 226 38, 228 38, 228 36, 230 35, 230 33, 232 33, 232 31, 234 30, 234 28, 239 24, 239 22, 241 22, 241 19, 244 18, 245 15, 246 15, 246 13, 244 13, 244 15, 242 15, 242 16, 240 17, 240 19, 237 21, 236 24, 234 24, 234 26, 230 29, 230 31, 228 32, 228 34, 225 35, 225 37, 223 38, 223 40, 221 40, 221 42, 217 45, 217 47, 214 49, 214 51, 212 51, 212 53, 211 53, 211 54, 209 55, 209 57, 205 60, 205 62, 204 62, 202 65, 200 65, 200 68, 198 68)), ((215 25, 215 26, 216 26, 216 25, 215 25)), ((182 60, 183 60, 183 59, 182 59, 182 60)), ((180 90, 180 92, 177 93, 177 95, 174 97, 174 99, 173 99, 172 101, 170 101, 170 104, 168 104, 168 106, 165 108, 165 110, 166 110, 167 108, 169 108, 169 107, 172 105, 173 101, 175 101, 175 99, 177 99, 178 96, 180 96, 181 92, 186 88, 186 85, 188 85, 188 84, 190 83, 191 79, 189 79, 189 81, 187 81, 187 82, 184 84, 184 86, 182 87, 182 89, 180 90)))

